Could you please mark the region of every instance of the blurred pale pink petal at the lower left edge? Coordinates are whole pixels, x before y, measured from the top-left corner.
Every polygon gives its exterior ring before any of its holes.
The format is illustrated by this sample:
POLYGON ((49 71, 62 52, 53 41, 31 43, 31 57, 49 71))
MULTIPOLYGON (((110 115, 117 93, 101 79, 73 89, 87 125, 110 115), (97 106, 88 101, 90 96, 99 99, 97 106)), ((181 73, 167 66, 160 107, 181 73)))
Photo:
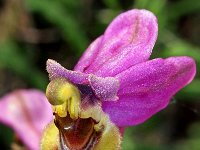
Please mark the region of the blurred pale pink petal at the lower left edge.
POLYGON ((51 105, 40 91, 18 90, 0 100, 0 122, 13 128, 28 149, 39 149, 42 131, 52 119, 51 105))

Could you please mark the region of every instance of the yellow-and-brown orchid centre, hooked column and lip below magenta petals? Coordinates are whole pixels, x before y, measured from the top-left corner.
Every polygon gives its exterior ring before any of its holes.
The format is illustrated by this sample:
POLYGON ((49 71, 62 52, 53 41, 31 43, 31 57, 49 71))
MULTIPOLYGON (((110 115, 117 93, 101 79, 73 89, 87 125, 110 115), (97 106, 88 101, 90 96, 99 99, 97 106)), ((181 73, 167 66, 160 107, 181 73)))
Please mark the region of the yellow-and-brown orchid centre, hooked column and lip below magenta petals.
POLYGON ((46 96, 53 107, 54 121, 44 131, 41 149, 120 149, 119 129, 98 102, 87 99, 85 103, 86 93, 64 78, 49 83, 46 96))

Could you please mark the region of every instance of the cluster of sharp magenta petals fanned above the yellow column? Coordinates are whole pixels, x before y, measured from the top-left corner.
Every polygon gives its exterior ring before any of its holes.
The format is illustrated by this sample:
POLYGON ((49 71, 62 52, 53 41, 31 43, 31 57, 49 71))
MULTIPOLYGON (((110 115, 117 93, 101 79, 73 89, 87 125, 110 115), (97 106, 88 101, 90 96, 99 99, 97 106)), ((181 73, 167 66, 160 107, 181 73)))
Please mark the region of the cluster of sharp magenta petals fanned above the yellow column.
POLYGON ((157 19, 151 12, 122 13, 88 47, 74 71, 48 60, 49 77, 90 87, 92 98, 100 101, 118 127, 142 123, 165 108, 196 73, 190 57, 149 60, 157 33, 157 19))

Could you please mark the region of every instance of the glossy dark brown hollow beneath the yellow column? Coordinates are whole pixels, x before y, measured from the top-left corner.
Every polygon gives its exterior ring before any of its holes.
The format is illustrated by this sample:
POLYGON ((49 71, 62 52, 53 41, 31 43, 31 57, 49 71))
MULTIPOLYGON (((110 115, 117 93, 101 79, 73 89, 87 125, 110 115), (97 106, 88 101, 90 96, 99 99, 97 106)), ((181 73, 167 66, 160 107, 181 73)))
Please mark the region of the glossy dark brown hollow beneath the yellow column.
POLYGON ((69 114, 67 117, 59 117, 55 114, 55 125, 59 129, 63 144, 69 149, 83 149, 95 132, 95 121, 92 118, 73 120, 69 114))

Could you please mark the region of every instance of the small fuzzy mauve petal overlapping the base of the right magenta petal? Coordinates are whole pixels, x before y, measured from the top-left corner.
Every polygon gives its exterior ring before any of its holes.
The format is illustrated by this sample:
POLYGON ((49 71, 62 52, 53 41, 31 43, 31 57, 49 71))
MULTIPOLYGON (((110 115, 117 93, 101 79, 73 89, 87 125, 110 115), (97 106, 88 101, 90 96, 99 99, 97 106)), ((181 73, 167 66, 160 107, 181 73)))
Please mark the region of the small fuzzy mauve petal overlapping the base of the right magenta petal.
POLYGON ((95 95, 102 101, 118 100, 119 81, 113 77, 96 77, 90 75, 88 78, 95 95))

